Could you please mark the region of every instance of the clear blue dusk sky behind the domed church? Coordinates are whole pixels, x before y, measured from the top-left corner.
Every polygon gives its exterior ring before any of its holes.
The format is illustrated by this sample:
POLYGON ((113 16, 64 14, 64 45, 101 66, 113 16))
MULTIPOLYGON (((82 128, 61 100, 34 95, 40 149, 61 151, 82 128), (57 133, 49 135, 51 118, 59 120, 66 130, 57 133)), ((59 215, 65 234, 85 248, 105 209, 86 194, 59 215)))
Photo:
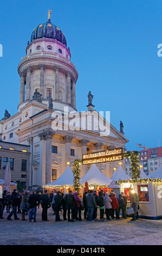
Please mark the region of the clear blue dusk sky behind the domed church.
POLYGON ((17 66, 33 29, 48 19, 66 36, 79 73, 77 111, 87 111, 88 92, 96 111, 110 111, 111 124, 124 124, 127 150, 162 146, 161 0, 0 1, 1 115, 17 113, 20 77, 17 66))

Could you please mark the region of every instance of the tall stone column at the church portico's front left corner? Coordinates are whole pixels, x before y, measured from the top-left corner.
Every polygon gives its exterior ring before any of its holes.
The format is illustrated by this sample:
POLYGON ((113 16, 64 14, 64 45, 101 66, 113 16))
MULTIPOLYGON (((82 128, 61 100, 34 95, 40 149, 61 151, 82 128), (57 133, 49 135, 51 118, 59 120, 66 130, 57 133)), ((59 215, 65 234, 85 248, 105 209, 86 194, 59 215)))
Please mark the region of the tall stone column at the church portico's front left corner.
POLYGON ((38 133, 38 137, 46 141, 46 184, 51 182, 51 139, 55 135, 52 130, 44 130, 38 133))

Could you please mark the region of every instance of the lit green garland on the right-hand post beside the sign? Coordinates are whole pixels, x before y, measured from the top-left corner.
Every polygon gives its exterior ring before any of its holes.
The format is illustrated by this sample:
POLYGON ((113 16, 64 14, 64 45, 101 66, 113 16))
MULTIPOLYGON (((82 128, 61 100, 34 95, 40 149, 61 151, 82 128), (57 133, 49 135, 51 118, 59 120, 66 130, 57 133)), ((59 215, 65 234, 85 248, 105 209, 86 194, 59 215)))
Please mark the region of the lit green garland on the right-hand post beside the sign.
POLYGON ((127 151, 123 153, 124 158, 129 158, 131 160, 132 167, 132 179, 140 178, 140 168, 139 168, 139 154, 138 151, 127 151))

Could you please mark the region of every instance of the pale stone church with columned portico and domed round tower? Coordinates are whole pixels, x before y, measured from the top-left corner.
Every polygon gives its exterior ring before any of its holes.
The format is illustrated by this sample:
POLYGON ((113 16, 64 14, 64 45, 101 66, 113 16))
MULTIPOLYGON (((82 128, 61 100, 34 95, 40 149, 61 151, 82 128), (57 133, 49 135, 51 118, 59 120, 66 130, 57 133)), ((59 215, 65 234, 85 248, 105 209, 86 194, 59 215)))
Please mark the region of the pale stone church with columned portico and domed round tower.
MULTIPOLYGON (((96 121, 98 122, 101 116, 93 109, 93 97, 89 98, 86 111, 83 109, 82 112, 77 112, 75 85, 78 73, 70 60, 71 53, 66 38, 61 29, 51 23, 50 15, 47 22, 34 28, 26 54, 18 65, 18 112, 10 116, 6 110, 4 118, 0 121, 1 142, 4 145, 10 143, 13 148, 15 144, 15 150, 9 151, 10 154, 0 155, 2 159, 16 157, 13 156, 18 147, 16 144, 22 145, 19 146, 19 166, 15 165, 16 169, 11 171, 11 179, 14 182, 20 179, 36 189, 59 178, 66 169, 67 162, 70 162, 72 168, 74 159, 81 159, 82 154, 114 148, 125 150, 128 139, 123 131, 116 130, 103 118, 103 124, 109 127, 109 134, 100 136, 99 129, 95 129, 96 121), (88 120, 87 111, 92 118, 92 129, 80 126, 81 118, 88 120), (58 130, 54 130, 53 124, 58 117, 60 123, 56 122, 56 125, 61 125, 63 120, 63 129, 59 126, 58 130), (76 126, 78 121, 77 129, 68 129, 68 125, 73 128, 74 123, 76 126), (21 161, 25 160, 21 151, 24 145, 30 148, 30 156, 26 153, 29 168, 27 180, 24 180, 26 174, 22 173, 21 169, 21 161), (14 176, 15 173, 17 176, 14 176)), ((87 93, 85 92, 86 97, 87 93)), ((98 128, 100 123, 101 121, 98 128)), ((125 169, 125 161, 122 162, 125 169)), ((118 162, 114 161, 100 163, 98 167, 110 178, 117 165, 118 162)), ((90 165, 82 165, 81 176, 85 175, 89 168, 90 165)), ((3 172, 0 178, 3 179, 3 172)))

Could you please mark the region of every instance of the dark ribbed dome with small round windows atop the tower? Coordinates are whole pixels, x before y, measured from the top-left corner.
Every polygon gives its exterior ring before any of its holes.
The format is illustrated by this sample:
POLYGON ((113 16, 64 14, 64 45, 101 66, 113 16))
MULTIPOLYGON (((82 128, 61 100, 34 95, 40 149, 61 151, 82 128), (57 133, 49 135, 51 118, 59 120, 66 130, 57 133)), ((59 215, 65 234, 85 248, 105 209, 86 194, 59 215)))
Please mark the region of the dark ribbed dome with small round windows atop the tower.
POLYGON ((46 23, 41 23, 33 30, 33 33, 31 34, 31 42, 38 38, 56 39, 67 46, 64 34, 61 32, 60 28, 51 23, 50 20, 46 23))

